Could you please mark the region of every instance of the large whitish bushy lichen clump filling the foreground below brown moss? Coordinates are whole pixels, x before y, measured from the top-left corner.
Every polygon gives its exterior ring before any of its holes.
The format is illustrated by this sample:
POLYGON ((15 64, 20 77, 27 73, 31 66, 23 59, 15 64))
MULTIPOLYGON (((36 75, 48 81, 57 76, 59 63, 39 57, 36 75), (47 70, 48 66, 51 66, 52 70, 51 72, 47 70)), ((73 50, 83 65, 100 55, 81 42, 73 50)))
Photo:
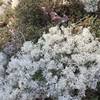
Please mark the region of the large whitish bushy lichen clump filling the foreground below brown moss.
POLYGON ((100 42, 89 28, 76 34, 72 27, 62 31, 55 26, 36 44, 23 44, 8 63, 5 79, 0 74, 0 100, 81 100, 87 87, 96 89, 100 42))

